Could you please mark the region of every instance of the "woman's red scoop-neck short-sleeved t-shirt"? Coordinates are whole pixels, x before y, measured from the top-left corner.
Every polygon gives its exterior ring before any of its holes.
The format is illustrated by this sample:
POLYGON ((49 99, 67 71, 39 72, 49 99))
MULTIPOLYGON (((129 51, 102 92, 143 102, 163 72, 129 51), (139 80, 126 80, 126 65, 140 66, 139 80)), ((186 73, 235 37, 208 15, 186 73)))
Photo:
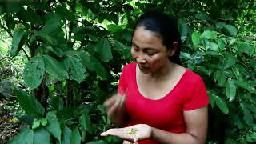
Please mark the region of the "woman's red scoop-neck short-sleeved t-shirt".
MULTIPOLYGON (((209 104, 202 78, 188 69, 173 90, 163 98, 153 100, 139 93, 136 63, 130 63, 122 69, 118 92, 121 94, 126 92, 126 110, 129 115, 126 126, 147 124, 172 133, 186 132, 183 111, 198 109, 209 104)), ((147 139, 138 143, 158 142, 147 139)))

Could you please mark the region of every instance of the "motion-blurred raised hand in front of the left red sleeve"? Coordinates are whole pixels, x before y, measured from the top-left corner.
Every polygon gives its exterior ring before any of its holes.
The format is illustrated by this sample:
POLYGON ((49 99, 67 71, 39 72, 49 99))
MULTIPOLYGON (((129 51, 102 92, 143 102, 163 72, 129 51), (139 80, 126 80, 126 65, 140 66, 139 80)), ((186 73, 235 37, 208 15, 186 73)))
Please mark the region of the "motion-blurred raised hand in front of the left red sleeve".
POLYGON ((126 96, 124 94, 114 94, 104 102, 107 117, 117 126, 122 126, 125 122, 126 113, 126 96))

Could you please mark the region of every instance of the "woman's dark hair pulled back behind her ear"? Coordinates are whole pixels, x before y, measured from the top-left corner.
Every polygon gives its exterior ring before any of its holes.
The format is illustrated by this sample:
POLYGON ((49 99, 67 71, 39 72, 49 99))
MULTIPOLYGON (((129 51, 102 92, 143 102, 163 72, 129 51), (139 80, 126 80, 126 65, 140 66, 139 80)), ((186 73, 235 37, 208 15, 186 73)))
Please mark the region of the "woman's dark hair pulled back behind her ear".
POLYGON ((138 26, 144 26, 145 30, 153 31, 159 34, 162 39, 162 44, 170 49, 174 42, 178 42, 178 47, 175 54, 170 57, 170 61, 181 64, 179 54, 182 47, 182 41, 178 32, 178 25, 174 18, 169 15, 159 12, 147 12, 142 14, 134 26, 134 31, 138 26))

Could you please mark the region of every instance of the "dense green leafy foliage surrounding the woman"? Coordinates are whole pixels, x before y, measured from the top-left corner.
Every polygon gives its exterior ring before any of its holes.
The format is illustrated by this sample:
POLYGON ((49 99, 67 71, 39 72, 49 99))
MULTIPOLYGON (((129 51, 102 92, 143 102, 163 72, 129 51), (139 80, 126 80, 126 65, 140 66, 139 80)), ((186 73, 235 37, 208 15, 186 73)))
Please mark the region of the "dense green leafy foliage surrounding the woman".
POLYGON ((182 65, 206 83, 207 143, 255 143, 254 0, 0 1, 0 114, 19 123, 2 143, 120 143, 99 136, 113 127, 102 102, 149 10, 177 18, 182 65))

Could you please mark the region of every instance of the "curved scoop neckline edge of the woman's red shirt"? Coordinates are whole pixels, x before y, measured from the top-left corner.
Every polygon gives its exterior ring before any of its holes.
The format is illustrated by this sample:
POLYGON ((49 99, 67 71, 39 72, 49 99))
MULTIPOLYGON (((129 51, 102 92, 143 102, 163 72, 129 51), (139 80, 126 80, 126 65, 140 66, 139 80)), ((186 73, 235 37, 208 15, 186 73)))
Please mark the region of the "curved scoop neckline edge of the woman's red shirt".
POLYGON ((146 96, 142 95, 141 92, 138 90, 138 83, 137 83, 137 77, 136 77, 136 74, 137 74, 136 67, 137 67, 137 64, 135 63, 135 65, 134 65, 134 70, 135 70, 134 79, 135 79, 135 86, 136 86, 136 89, 138 91, 138 95, 141 98, 146 99, 146 100, 151 101, 151 102, 159 102, 159 101, 162 101, 165 98, 168 98, 168 96, 171 95, 174 92, 174 90, 176 90, 178 88, 178 86, 182 83, 182 81, 183 81, 182 79, 184 79, 186 73, 188 72, 188 69, 186 69, 184 74, 182 74, 182 77, 178 80, 178 83, 165 96, 163 96, 162 98, 158 98, 158 99, 151 99, 151 98, 147 98, 146 96))

